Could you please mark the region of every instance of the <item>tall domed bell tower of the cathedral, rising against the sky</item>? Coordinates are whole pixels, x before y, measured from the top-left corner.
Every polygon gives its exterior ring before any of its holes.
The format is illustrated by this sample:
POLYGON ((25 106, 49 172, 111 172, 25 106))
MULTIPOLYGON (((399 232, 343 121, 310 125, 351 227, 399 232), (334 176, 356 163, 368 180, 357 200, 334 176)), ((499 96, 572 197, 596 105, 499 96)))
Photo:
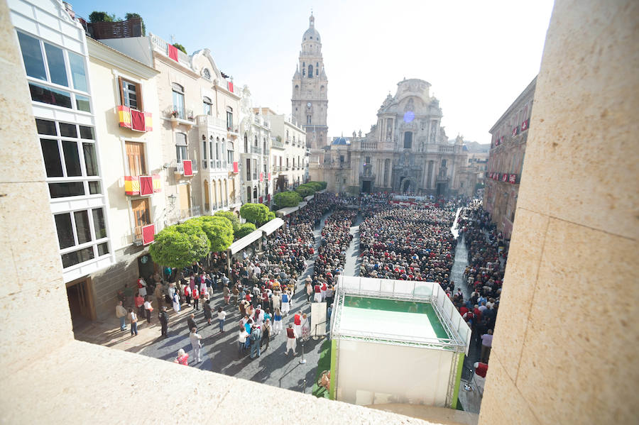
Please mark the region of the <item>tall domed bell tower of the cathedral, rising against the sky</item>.
POLYGON ((306 130, 306 143, 311 149, 327 145, 328 79, 322 60, 320 33, 315 29, 315 16, 302 35, 302 50, 293 75, 291 114, 297 125, 306 130))

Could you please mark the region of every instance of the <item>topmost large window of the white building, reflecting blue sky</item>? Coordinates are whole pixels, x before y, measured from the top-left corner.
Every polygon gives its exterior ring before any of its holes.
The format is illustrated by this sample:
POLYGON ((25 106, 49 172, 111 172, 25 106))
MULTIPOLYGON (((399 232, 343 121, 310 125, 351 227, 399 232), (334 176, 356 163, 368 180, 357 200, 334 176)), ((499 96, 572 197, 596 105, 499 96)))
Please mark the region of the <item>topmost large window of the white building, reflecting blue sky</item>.
POLYGON ((18 32, 18 43, 28 77, 72 90, 30 81, 31 100, 69 109, 74 109, 75 105, 75 109, 90 112, 89 98, 75 93, 87 92, 88 89, 84 57, 25 33, 18 32), (71 71, 71 82, 67 70, 71 71))

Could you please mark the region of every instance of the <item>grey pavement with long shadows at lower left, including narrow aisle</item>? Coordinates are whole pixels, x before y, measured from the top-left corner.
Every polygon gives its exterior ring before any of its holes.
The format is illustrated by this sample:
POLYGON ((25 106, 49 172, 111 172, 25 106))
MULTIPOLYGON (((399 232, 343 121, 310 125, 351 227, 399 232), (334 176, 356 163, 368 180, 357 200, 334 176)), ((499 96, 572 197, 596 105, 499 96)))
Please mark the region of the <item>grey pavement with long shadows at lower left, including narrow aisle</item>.
MULTIPOLYGON (((320 244, 320 231, 324 227, 324 222, 328 214, 322 216, 320 226, 315 233, 316 252, 320 244)), ((306 302, 306 294, 302 280, 307 275, 312 274, 314 258, 307 263, 305 273, 300 277, 297 285, 297 292, 293 296, 290 314, 283 319, 283 327, 286 328, 293 321, 293 314, 296 311, 310 314, 310 303, 306 302)), ((155 304, 155 303, 154 303, 155 304)), ((284 354, 285 331, 279 336, 272 336, 268 349, 263 350, 261 357, 251 360, 249 353, 239 353, 237 336, 239 331, 239 310, 231 305, 224 306, 222 292, 214 292, 212 298, 212 309, 217 311, 218 307, 223 307, 226 311, 226 324, 224 333, 219 332, 217 316, 213 315, 211 325, 207 325, 204 319, 202 308, 195 311, 192 307, 182 306, 182 310, 177 314, 173 309, 169 309, 170 319, 168 328, 168 338, 160 336, 160 324, 158 322, 158 305, 154 305, 155 311, 151 318, 151 324, 145 320, 138 322, 138 336, 131 336, 129 324, 127 331, 119 330, 119 320, 115 318, 104 321, 94 321, 82 329, 75 331, 75 338, 80 341, 97 343, 133 353, 148 355, 153 358, 160 358, 173 362, 178 350, 184 348, 190 355, 189 365, 202 370, 223 373, 246 380, 253 380, 275 387, 283 387, 295 391, 310 393, 315 381, 317 361, 320 358, 320 347, 324 338, 313 340, 312 338, 304 343, 305 364, 300 364, 302 344, 297 343, 295 357, 284 354), (202 335, 202 362, 195 363, 193 352, 188 338, 187 317, 195 313, 197 332, 202 335)), ((114 307, 115 310, 115 307, 114 307)))

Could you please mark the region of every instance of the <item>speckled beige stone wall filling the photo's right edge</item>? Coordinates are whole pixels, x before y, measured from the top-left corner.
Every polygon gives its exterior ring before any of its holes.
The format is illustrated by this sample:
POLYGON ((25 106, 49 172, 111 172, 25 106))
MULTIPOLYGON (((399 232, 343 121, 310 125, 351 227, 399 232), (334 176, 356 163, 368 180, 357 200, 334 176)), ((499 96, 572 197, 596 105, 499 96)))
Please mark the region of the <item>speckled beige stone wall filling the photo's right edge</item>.
POLYGON ((555 4, 480 424, 639 417, 638 16, 555 4))

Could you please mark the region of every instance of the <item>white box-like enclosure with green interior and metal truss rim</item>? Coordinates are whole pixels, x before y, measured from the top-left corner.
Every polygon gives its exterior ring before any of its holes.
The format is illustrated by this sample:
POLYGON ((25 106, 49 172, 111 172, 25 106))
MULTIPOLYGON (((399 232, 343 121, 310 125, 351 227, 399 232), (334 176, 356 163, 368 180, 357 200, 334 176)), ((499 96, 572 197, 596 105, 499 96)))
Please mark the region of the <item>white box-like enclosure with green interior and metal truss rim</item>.
POLYGON ((330 397, 457 406, 471 330, 437 282, 339 276, 330 397))

